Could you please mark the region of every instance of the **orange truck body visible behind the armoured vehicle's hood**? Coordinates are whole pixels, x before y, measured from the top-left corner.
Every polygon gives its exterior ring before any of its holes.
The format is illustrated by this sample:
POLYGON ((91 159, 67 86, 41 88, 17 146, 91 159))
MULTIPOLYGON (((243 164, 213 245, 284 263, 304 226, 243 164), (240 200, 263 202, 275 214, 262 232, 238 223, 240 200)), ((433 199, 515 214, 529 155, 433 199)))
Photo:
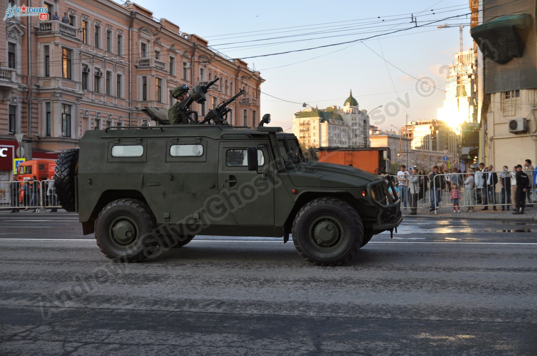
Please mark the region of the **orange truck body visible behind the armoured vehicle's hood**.
POLYGON ((390 172, 390 149, 388 147, 319 147, 311 149, 319 162, 353 166, 369 173, 390 172), (383 168, 384 167, 384 168, 383 168))

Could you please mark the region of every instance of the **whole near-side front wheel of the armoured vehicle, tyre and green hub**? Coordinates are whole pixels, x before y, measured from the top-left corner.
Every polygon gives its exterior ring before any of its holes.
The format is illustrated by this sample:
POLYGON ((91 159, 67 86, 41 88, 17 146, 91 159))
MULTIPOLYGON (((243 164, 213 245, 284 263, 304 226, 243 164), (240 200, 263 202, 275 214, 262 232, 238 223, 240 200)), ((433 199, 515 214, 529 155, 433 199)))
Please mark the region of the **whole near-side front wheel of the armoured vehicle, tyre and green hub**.
POLYGON ((299 254, 318 266, 337 266, 358 252, 364 227, 358 212, 337 198, 307 203, 293 222, 293 243, 299 254))

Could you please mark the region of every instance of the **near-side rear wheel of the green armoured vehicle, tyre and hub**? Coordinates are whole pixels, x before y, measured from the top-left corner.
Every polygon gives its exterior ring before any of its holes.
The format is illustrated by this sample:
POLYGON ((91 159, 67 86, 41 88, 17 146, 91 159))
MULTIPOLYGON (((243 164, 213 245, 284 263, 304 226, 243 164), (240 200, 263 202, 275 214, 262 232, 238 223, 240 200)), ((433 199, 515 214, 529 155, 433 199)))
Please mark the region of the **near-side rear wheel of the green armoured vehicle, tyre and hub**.
POLYGON ((156 220, 147 204, 118 199, 106 205, 95 221, 95 239, 101 252, 114 262, 140 262, 158 246, 156 220))

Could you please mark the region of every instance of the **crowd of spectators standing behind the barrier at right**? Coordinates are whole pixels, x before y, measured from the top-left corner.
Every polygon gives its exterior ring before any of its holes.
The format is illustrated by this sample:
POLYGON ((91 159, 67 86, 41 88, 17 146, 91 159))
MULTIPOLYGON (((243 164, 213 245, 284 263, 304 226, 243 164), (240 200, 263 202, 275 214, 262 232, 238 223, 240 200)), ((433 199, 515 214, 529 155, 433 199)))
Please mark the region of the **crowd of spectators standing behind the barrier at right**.
POLYGON ((460 213, 461 205, 466 207, 465 212, 474 212, 475 206, 481 205, 481 210, 489 210, 491 206, 496 211, 499 206, 502 211, 510 211, 512 207, 513 214, 524 214, 526 206, 537 204, 537 171, 529 159, 524 166, 516 165, 512 170, 508 166, 495 170, 483 163, 465 171, 458 168, 442 171, 439 166, 432 166, 427 173, 425 169, 410 168, 401 165, 393 176, 401 206, 409 207, 410 215, 416 215, 418 203, 422 202, 420 207, 424 207, 427 198, 429 211, 437 210, 440 201, 449 199, 453 213, 460 213))

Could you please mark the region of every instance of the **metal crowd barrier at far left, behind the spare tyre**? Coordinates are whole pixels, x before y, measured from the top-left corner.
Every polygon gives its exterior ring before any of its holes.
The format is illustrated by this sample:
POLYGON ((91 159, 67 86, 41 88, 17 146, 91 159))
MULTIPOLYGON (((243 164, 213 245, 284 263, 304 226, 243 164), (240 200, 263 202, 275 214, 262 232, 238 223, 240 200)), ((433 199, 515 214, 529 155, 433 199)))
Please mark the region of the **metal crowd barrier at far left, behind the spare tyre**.
POLYGON ((45 211, 61 208, 54 181, 0 182, 0 211, 45 211))

